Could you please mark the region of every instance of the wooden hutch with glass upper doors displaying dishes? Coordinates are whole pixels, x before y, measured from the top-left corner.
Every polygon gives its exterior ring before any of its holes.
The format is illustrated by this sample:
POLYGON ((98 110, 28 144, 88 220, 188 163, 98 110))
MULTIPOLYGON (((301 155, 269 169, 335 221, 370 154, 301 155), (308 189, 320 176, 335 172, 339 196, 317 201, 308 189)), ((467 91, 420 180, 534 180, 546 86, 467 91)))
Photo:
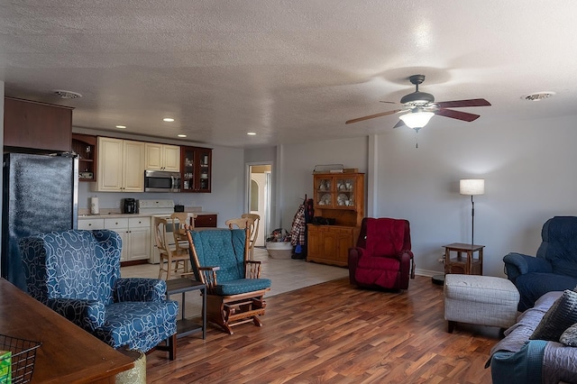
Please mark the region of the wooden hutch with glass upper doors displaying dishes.
POLYGON ((347 267, 364 217, 364 173, 316 173, 313 183, 315 216, 334 225, 307 224, 307 261, 347 267))

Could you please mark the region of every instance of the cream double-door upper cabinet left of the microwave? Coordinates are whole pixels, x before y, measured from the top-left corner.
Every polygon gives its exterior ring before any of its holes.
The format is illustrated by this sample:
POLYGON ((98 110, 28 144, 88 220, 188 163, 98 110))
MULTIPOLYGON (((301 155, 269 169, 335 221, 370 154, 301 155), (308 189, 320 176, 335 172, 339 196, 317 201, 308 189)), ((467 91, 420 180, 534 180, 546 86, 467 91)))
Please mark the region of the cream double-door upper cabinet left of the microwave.
POLYGON ((144 192, 144 142, 98 136, 96 191, 144 192))

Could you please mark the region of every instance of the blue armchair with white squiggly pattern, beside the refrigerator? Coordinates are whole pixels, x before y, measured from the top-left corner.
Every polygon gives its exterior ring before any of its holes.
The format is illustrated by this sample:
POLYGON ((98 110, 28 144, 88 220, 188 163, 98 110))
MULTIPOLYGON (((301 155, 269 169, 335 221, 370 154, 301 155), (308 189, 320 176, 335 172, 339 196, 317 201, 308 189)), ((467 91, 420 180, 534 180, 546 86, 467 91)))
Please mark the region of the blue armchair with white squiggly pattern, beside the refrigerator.
POLYGON ((120 278, 118 233, 44 233, 19 246, 32 297, 114 348, 157 348, 174 360, 179 305, 164 280, 120 278))

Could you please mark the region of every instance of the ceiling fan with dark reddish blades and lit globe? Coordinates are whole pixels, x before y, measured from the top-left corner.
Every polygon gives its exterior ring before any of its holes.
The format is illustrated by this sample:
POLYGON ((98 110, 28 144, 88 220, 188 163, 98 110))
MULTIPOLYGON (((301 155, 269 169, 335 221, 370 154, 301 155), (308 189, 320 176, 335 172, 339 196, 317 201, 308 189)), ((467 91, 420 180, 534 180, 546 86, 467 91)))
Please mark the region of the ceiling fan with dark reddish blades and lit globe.
MULTIPOLYGON (((370 114, 368 116, 347 120, 345 123, 357 123, 362 122, 363 120, 373 119, 375 117, 408 112, 408 114, 401 114, 399 116, 400 120, 393 128, 407 125, 409 128, 413 128, 418 131, 419 129, 423 128, 435 114, 439 114, 444 117, 450 117, 452 119, 463 120, 464 122, 472 122, 473 120, 476 120, 480 117, 479 114, 469 114, 467 112, 454 111, 453 109, 448 108, 490 105, 490 103, 484 98, 441 101, 435 103, 435 96, 427 94, 426 92, 420 92, 418 90, 419 84, 422 84, 423 81, 425 81, 425 75, 413 75, 408 79, 412 84, 415 85, 416 89, 415 92, 405 95, 400 99, 400 104, 403 105, 402 109, 382 112, 380 114, 370 114)), ((398 104, 390 101, 382 101, 381 103, 398 104)))

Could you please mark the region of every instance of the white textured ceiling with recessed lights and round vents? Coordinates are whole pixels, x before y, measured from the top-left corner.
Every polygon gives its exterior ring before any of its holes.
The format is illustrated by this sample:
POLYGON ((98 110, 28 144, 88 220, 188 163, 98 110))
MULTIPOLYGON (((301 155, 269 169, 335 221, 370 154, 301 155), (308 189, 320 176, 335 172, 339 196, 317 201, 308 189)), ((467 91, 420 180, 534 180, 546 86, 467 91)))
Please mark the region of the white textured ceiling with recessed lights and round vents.
POLYGON ((393 133, 398 114, 344 122, 396 109, 380 100, 420 73, 437 101, 490 101, 426 127, 460 129, 576 114, 576 15, 574 0, 1 0, 0 79, 74 106, 76 127, 252 148, 393 133), (521 99, 539 91, 556 95, 521 99))

